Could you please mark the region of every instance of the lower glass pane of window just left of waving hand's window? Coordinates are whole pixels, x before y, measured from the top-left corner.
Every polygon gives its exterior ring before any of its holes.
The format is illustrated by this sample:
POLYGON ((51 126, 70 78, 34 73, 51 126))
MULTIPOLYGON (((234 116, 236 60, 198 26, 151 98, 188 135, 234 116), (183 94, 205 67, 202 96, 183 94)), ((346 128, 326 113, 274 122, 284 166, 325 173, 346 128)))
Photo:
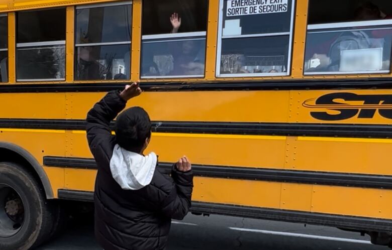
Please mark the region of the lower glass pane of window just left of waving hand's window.
POLYGON ((77 47, 76 80, 125 80, 130 72, 130 45, 77 47))

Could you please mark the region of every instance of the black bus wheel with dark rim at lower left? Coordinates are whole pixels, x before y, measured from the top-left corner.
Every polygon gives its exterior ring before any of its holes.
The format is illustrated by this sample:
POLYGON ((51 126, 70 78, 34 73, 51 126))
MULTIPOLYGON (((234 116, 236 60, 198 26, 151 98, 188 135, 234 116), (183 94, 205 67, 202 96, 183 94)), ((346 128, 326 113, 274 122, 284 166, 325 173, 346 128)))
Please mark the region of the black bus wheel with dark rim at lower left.
POLYGON ((49 239, 51 204, 23 167, 0 162, 0 249, 27 250, 49 239))

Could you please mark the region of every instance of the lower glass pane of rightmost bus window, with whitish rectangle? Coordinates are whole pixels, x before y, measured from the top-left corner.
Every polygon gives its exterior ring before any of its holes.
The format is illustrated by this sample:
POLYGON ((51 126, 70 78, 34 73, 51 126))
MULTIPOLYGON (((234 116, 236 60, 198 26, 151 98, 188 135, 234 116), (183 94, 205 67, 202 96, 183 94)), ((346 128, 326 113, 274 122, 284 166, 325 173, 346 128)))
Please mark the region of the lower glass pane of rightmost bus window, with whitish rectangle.
POLYGON ((305 73, 389 71, 392 27, 308 32, 305 73))

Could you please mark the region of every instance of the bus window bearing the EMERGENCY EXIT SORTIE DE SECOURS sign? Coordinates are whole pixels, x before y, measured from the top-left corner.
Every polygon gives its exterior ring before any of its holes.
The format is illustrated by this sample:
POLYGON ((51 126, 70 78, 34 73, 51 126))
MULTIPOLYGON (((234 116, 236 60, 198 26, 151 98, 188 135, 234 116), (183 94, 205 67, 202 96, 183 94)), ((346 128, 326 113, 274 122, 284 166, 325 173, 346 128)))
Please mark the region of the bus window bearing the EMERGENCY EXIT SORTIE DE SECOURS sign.
POLYGON ((288 75, 293 0, 221 0, 217 76, 288 75))

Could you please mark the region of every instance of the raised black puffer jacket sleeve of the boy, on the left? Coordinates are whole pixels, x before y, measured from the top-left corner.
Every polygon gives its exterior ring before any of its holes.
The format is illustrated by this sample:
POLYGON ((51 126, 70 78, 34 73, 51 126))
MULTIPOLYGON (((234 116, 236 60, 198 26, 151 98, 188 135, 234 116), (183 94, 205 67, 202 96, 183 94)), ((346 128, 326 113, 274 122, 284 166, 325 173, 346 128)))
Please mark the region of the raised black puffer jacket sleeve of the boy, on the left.
POLYGON ((106 148, 112 138, 110 122, 117 114, 125 108, 126 101, 120 97, 119 91, 111 91, 105 95, 99 102, 87 113, 87 141, 91 153, 95 158, 99 150, 97 148, 106 148))

